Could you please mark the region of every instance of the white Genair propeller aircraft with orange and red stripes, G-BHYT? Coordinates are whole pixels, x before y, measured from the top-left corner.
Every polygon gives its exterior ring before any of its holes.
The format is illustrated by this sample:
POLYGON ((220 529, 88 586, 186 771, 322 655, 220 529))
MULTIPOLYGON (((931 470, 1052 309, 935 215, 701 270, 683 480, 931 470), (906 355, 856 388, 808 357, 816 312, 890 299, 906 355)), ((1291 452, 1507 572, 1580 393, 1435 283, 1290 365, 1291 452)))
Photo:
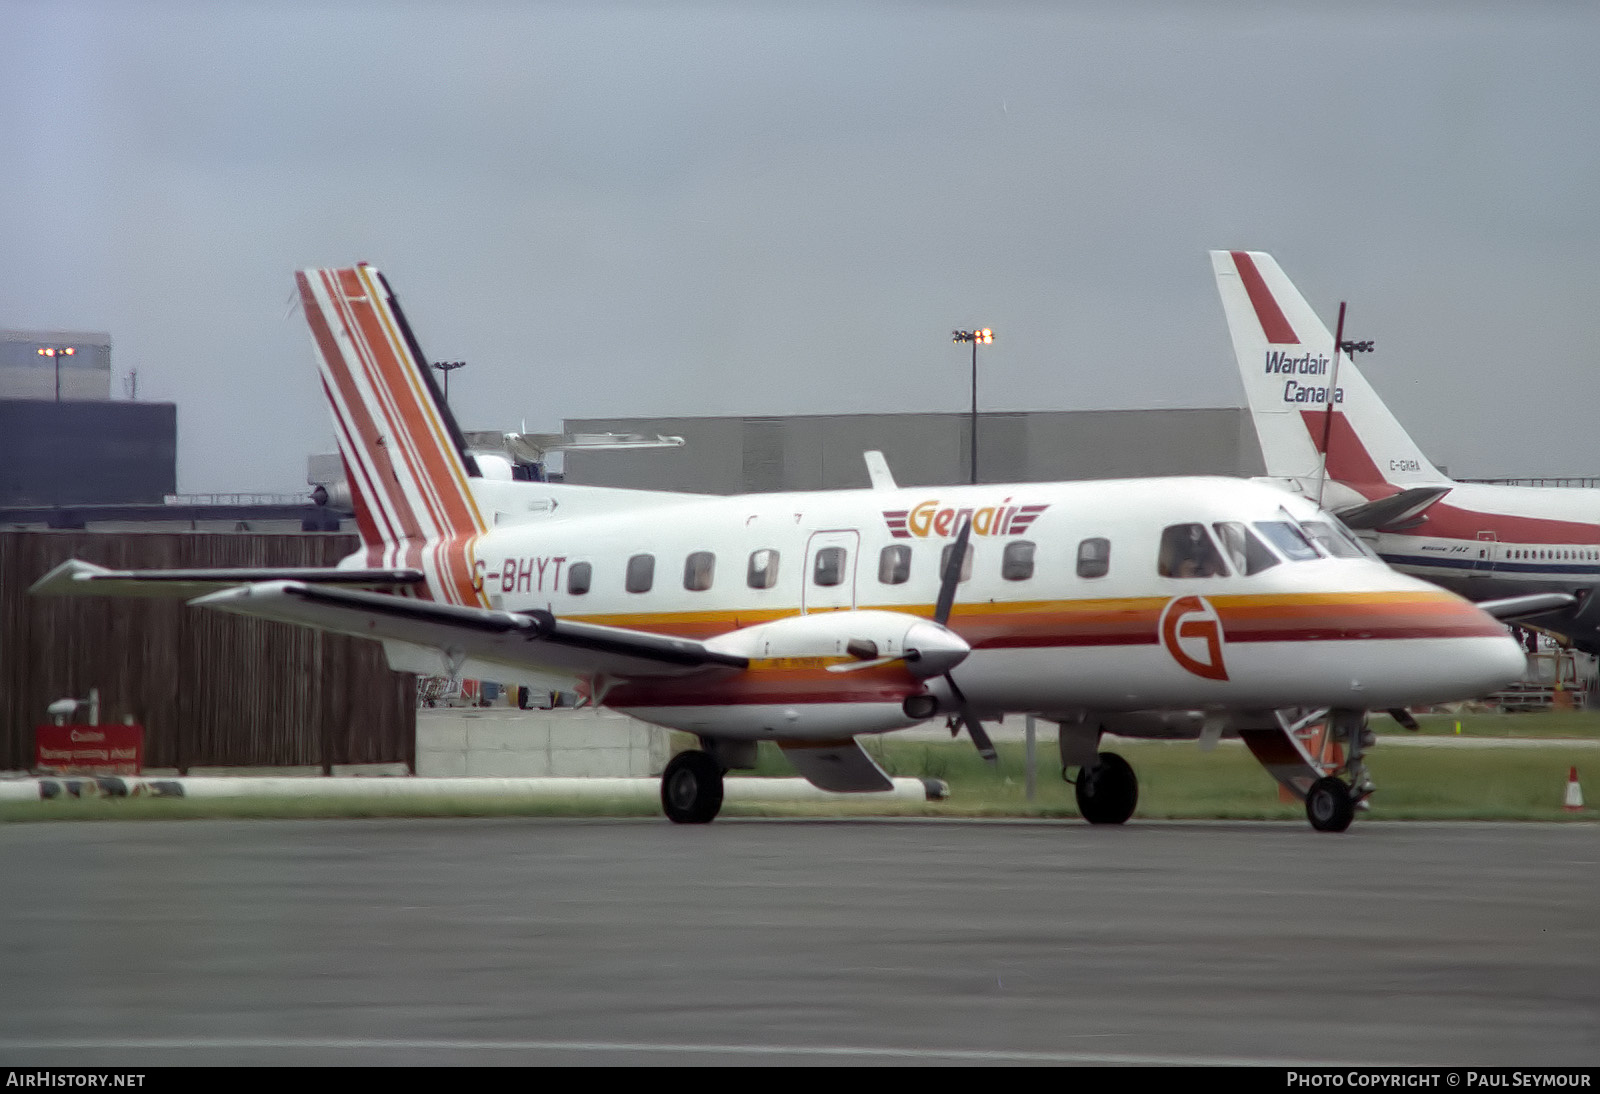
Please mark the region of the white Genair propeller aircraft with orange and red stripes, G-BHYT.
POLYGON ((362 550, 288 573, 69 561, 35 592, 165 589, 381 640, 397 670, 578 691, 699 737, 661 779, 666 814, 691 824, 760 741, 819 787, 883 790, 859 734, 946 718, 992 757, 982 721, 1035 713, 1059 723, 1091 822, 1138 800, 1126 761, 1098 750, 1106 729, 1229 731, 1317 828, 1342 830, 1371 790, 1366 710, 1523 672, 1491 614, 1238 480, 902 489, 875 453, 870 489, 803 494, 490 480, 378 270, 298 280, 362 550), (1315 710, 1342 765, 1307 744, 1315 710))

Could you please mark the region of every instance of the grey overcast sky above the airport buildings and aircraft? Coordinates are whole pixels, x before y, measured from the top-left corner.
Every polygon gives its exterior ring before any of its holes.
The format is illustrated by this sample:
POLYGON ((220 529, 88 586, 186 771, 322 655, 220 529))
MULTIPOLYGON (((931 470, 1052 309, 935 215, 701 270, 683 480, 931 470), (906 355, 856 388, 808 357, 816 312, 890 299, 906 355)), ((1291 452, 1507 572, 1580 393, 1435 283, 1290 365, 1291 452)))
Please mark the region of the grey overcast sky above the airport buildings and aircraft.
POLYGON ((467 429, 1238 406, 1272 251, 1458 475, 1600 475, 1600 6, 0 0, 0 326, 110 331, 184 491, 333 449, 304 266, 467 429))

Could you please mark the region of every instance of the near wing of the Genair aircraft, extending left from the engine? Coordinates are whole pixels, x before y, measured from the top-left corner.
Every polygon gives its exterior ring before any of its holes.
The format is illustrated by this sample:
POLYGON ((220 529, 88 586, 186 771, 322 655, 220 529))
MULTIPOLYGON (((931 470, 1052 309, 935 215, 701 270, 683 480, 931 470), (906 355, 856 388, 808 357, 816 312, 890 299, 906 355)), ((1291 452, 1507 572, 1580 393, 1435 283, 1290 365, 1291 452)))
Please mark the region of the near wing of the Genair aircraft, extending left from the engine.
POLYGON ((224 589, 192 603, 235 616, 432 648, 458 662, 574 680, 602 673, 670 677, 749 665, 746 657, 717 653, 688 638, 557 619, 547 611, 494 611, 298 581, 224 589))

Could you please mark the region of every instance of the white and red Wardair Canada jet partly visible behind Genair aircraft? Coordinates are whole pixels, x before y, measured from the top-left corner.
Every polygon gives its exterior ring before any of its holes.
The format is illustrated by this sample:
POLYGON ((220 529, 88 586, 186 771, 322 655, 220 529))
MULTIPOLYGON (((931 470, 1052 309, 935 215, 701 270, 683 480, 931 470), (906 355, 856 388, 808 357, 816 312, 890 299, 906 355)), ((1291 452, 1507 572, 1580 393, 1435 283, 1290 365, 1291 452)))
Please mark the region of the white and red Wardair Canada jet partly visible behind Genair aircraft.
POLYGON ((1211 267, 1269 480, 1320 497, 1392 566, 1472 600, 1522 593, 1525 622, 1600 653, 1600 489, 1448 478, 1270 254, 1211 251, 1211 267))

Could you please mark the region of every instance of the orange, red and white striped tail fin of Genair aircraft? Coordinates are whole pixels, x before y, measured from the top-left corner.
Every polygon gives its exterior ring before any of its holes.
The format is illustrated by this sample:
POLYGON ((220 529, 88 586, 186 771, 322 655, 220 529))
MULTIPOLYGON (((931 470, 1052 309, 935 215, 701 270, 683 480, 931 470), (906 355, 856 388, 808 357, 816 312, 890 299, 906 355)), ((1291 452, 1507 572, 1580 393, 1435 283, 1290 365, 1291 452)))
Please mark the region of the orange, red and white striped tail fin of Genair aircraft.
POLYGON ((427 593, 482 605, 478 470, 382 274, 299 270, 306 321, 355 501, 366 565, 414 566, 427 593))

